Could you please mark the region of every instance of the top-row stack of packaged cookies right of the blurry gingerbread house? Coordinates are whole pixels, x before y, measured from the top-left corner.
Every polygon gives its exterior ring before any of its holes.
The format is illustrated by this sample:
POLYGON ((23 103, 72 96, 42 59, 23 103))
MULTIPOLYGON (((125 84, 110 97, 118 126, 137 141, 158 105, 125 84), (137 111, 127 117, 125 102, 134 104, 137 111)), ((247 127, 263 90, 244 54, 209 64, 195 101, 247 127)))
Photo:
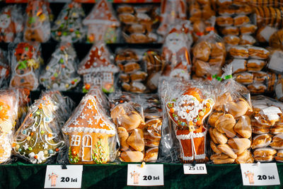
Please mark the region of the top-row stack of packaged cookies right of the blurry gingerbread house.
POLYGON ((158 6, 121 5, 117 7, 122 23, 122 35, 126 42, 157 42, 156 24, 159 22, 158 6))

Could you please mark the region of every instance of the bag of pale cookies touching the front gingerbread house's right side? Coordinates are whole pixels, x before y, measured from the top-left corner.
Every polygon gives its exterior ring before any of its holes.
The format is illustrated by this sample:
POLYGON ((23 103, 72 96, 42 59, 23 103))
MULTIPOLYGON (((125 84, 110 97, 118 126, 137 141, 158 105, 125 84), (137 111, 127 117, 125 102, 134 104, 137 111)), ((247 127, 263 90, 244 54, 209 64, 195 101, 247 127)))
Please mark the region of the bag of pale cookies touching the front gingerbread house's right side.
POLYGON ((141 162, 144 160, 144 111, 133 102, 120 103, 111 110, 111 118, 117 127, 120 139, 120 161, 141 162))

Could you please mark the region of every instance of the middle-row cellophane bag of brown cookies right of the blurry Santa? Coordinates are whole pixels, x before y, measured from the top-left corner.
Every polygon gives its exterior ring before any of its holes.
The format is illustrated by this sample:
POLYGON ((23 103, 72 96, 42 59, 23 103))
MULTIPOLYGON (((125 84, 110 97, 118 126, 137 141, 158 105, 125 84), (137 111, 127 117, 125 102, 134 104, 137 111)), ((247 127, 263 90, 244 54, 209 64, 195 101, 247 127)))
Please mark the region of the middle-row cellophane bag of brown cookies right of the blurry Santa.
POLYGON ((203 35, 192 48, 192 71, 198 77, 211 77, 212 72, 221 75, 225 63, 226 47, 222 38, 211 31, 203 35))

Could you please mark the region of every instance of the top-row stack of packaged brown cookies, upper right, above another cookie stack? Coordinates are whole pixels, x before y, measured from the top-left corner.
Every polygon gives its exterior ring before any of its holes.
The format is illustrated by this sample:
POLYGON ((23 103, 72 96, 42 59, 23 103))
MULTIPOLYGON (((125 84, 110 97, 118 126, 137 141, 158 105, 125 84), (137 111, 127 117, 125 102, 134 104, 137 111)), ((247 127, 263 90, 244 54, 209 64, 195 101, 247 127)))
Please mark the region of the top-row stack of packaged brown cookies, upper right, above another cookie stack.
POLYGON ((217 1, 219 26, 226 45, 253 45, 256 41, 251 34, 255 33, 256 25, 250 21, 253 8, 238 1, 217 1))

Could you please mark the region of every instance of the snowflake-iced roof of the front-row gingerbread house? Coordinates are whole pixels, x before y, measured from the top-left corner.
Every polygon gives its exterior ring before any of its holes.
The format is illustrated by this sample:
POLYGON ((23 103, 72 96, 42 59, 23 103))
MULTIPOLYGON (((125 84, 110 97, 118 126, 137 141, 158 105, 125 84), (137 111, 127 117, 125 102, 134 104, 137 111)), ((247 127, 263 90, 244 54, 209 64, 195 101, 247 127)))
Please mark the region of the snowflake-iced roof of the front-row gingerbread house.
POLYGON ((74 115, 66 122, 63 132, 94 132, 115 134, 115 125, 106 118, 98 107, 95 96, 86 95, 74 115))

